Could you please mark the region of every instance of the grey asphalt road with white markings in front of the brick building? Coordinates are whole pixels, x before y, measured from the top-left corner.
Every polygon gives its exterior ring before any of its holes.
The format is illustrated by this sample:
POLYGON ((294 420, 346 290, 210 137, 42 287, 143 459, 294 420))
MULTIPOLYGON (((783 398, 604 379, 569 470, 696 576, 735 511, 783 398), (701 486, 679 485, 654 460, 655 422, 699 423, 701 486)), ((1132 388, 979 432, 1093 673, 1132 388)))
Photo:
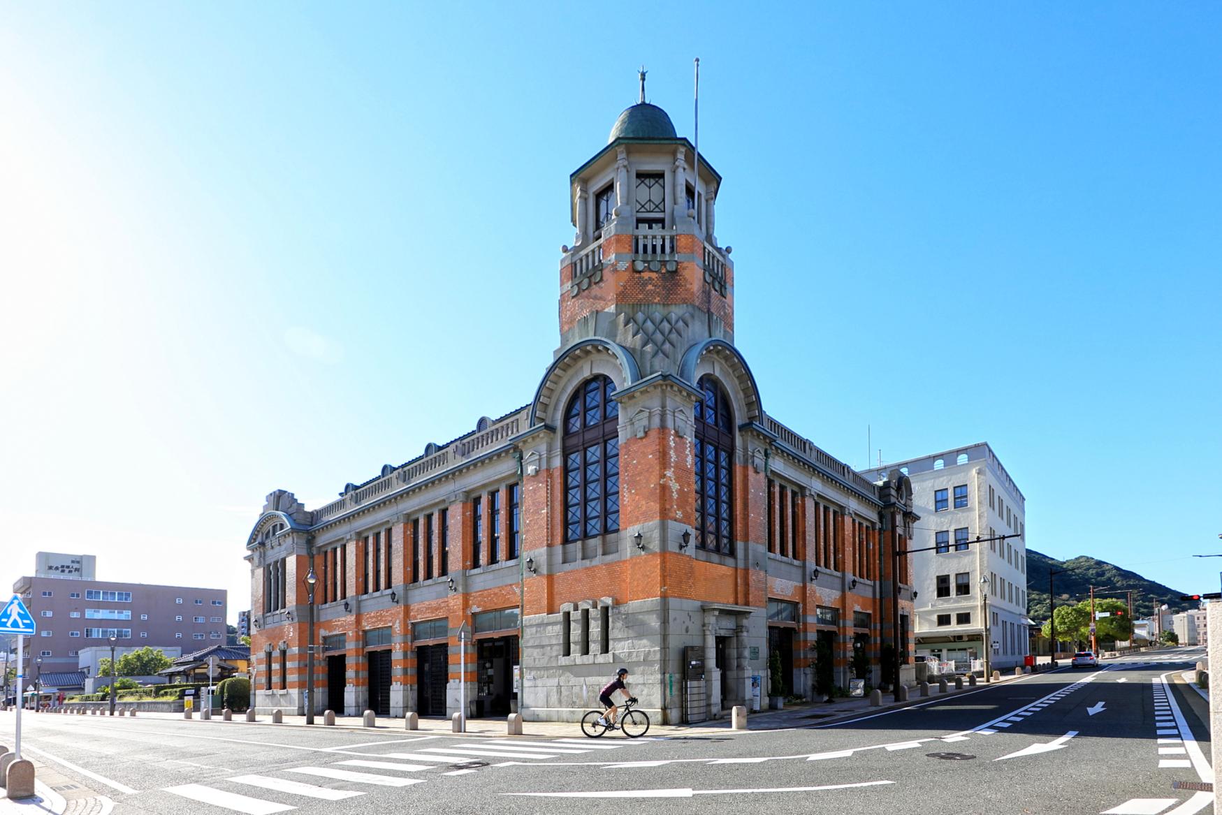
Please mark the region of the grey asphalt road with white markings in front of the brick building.
MULTIPOLYGON (((607 803, 683 813, 698 800, 753 814, 1189 815, 1212 800, 1172 789, 1212 778, 1205 706, 1178 682, 1198 659, 1149 652, 833 725, 682 738, 585 739, 576 725, 571 738, 489 739, 27 715, 24 744, 120 814, 568 814, 607 803)), ((0 742, 11 732, 12 714, 0 714, 0 742)))

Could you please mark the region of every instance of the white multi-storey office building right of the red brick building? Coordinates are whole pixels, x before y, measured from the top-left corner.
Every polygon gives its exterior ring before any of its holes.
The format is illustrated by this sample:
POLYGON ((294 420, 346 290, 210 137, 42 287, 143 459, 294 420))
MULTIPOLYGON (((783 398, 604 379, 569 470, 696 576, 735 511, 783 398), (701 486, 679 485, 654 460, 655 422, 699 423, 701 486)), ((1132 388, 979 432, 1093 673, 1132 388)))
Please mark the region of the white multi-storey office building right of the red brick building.
POLYGON ((913 511, 920 521, 912 549, 930 550, 915 552, 912 560, 916 655, 967 668, 971 660, 982 659, 987 635, 991 668, 1023 665, 1031 624, 1023 492, 986 442, 864 474, 877 480, 892 469, 913 484, 913 511), (1014 536, 973 543, 978 536, 998 535, 1014 536))

